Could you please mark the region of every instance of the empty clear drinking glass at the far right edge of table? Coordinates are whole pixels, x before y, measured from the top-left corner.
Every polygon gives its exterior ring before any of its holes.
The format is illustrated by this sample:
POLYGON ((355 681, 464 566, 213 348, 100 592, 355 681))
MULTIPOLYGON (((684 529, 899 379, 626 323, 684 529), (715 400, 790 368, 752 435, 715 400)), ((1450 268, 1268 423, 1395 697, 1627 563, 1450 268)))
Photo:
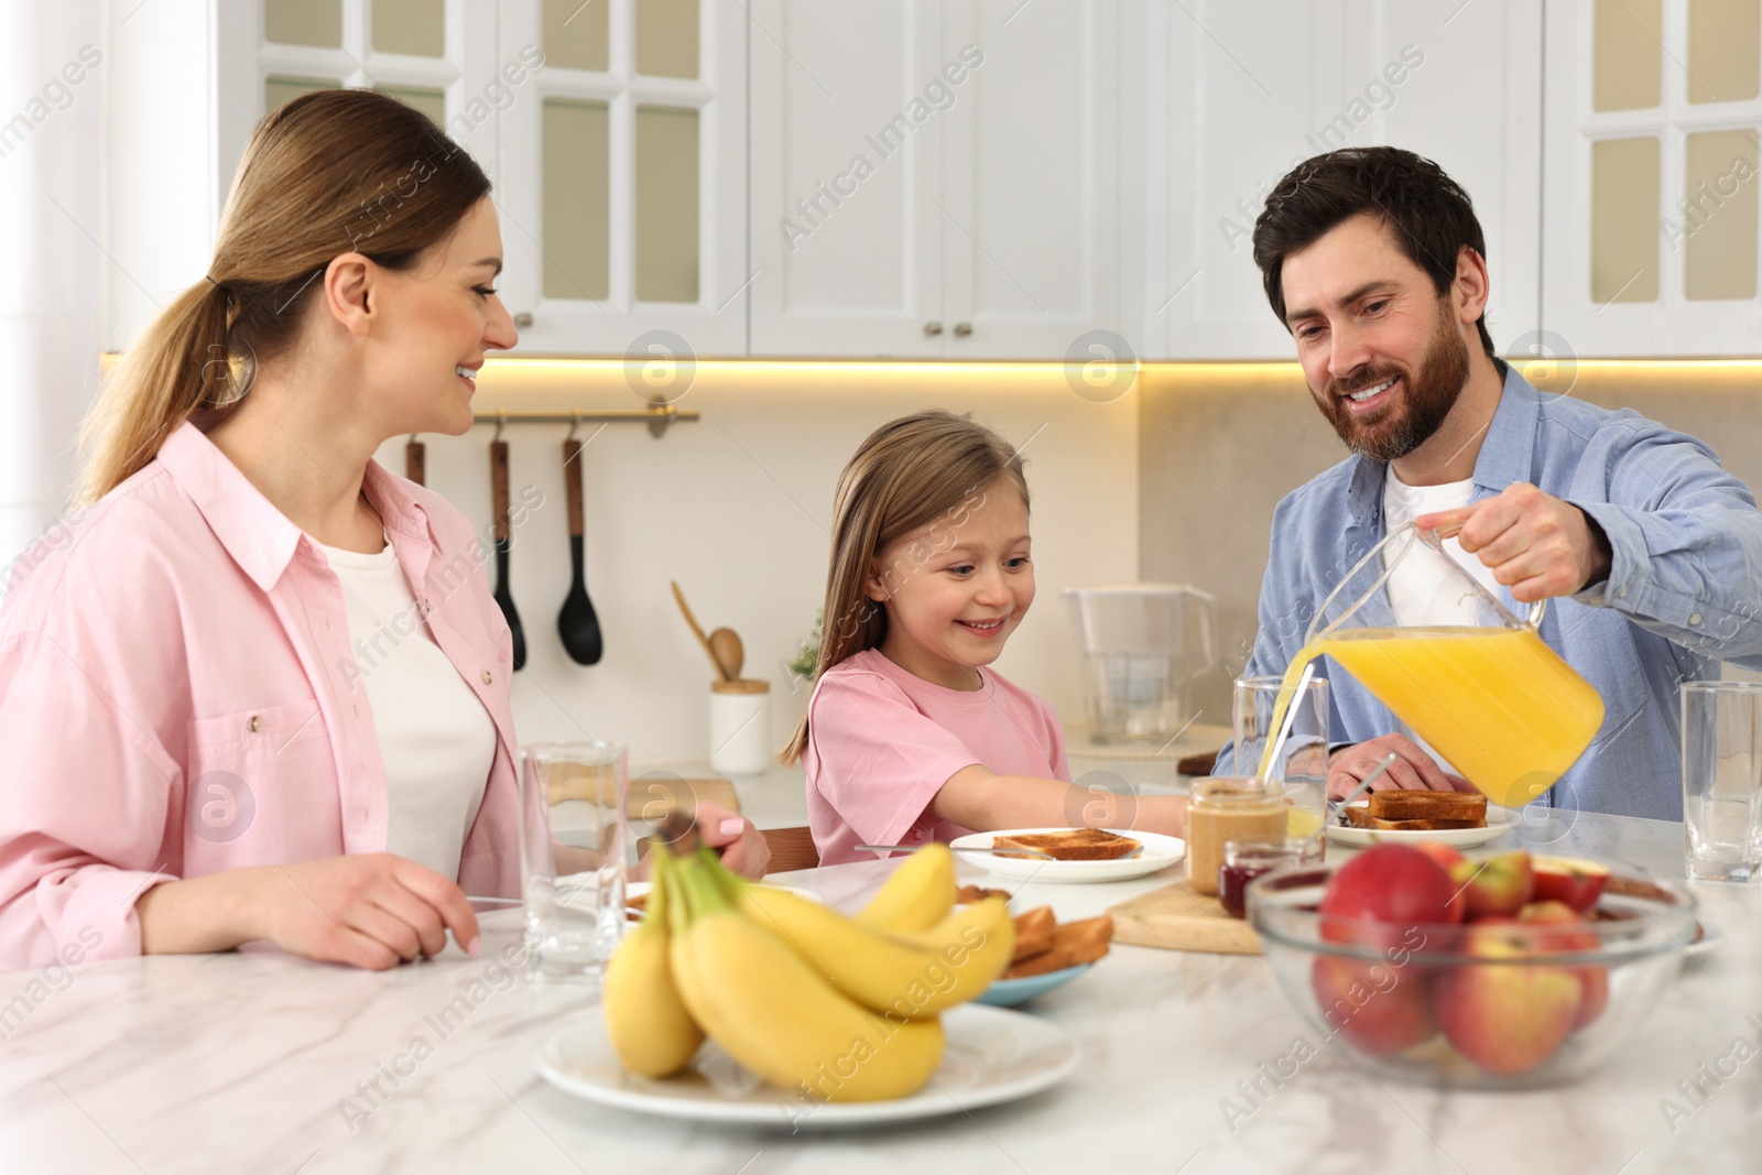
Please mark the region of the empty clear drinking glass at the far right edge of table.
POLYGON ((1762 876, 1762 684, 1683 684, 1683 849, 1695 881, 1762 876))

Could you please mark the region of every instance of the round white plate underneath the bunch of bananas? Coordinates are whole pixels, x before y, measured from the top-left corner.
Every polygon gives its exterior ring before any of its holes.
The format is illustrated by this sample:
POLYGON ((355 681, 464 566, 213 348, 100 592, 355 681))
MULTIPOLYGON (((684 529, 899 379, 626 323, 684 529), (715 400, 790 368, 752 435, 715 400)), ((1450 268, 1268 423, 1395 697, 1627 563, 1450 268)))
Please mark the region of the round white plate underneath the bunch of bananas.
POLYGON ((962 1004, 943 1013, 948 1050, 930 1082, 892 1101, 816 1103, 758 1083, 714 1045, 682 1076, 655 1082, 624 1071, 596 1013, 552 1034, 534 1059, 539 1076, 587 1101, 638 1113, 749 1126, 837 1127, 960 1113, 1050 1089, 1077 1068, 1077 1041, 1059 1025, 1004 1008, 962 1004), (701 1071, 721 1080, 712 1083, 701 1071), (745 1078, 740 1082, 733 1075, 745 1078))

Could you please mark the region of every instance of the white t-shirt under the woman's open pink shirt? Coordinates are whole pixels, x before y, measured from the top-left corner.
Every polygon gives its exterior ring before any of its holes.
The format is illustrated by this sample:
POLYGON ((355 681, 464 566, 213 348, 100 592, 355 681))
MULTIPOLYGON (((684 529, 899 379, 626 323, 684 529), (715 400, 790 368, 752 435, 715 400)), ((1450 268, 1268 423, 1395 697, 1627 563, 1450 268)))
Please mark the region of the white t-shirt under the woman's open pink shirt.
POLYGON ((456 879, 495 763, 495 722, 428 634, 389 543, 377 555, 319 550, 342 580, 386 765, 386 851, 456 879))

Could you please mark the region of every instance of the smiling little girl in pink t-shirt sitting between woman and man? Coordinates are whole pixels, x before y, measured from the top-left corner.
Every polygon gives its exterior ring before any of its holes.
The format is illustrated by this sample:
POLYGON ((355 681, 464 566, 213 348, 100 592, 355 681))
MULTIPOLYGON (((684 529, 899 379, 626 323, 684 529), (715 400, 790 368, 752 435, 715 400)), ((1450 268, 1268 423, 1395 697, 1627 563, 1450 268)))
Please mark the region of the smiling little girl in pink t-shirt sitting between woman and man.
POLYGON ((856 449, 833 500, 814 694, 782 752, 807 770, 823 865, 974 830, 1182 831, 1184 796, 1133 809, 1073 786, 1059 717, 985 668, 1033 602, 1027 481, 1003 437, 929 410, 856 449))

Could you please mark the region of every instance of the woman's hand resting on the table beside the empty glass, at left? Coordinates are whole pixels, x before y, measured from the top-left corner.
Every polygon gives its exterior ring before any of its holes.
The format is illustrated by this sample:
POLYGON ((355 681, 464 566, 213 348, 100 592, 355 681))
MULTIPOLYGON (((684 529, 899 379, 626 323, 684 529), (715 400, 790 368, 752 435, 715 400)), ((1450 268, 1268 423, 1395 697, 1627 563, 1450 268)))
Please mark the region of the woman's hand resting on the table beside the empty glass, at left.
POLYGON ((144 955, 226 951, 263 939, 305 958, 384 971, 439 955, 448 930, 478 953, 478 918, 465 891, 389 853, 171 881, 143 893, 136 914, 144 955))

